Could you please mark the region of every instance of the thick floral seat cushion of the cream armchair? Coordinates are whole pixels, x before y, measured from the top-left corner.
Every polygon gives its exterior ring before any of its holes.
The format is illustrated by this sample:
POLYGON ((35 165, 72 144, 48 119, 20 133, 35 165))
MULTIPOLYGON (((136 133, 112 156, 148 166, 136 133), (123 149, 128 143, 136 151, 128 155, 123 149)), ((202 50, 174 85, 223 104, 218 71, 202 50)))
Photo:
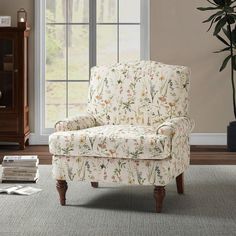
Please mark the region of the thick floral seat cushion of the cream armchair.
POLYGON ((77 131, 56 132, 49 138, 50 152, 59 156, 122 159, 170 157, 171 137, 146 125, 104 125, 77 131))

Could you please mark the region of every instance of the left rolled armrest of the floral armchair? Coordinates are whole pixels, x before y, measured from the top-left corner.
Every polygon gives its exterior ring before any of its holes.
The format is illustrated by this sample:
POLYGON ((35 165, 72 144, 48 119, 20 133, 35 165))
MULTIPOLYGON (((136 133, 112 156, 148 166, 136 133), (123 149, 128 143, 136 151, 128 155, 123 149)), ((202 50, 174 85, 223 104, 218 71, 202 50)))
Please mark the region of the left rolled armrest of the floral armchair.
POLYGON ((80 114, 78 116, 58 121, 55 124, 55 131, 72 131, 86 129, 96 126, 95 118, 90 114, 80 114))

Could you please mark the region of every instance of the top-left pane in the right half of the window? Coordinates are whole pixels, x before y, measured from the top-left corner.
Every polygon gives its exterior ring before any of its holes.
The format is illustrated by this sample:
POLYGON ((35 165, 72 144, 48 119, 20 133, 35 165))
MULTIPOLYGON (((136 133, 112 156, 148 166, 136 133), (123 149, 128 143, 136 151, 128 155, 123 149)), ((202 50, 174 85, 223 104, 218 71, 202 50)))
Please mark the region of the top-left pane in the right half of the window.
POLYGON ((117 23, 117 0, 97 0, 97 22, 117 23))

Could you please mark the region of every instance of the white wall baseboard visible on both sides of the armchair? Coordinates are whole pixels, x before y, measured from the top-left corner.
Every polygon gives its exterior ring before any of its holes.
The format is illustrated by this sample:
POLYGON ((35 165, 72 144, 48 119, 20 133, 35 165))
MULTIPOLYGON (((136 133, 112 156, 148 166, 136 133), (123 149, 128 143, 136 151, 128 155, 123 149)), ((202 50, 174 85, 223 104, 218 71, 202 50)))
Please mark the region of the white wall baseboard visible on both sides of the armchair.
MULTIPOLYGON (((47 145, 49 135, 30 134, 31 145, 47 145)), ((225 133, 192 133, 191 145, 226 145, 227 135, 225 133)))

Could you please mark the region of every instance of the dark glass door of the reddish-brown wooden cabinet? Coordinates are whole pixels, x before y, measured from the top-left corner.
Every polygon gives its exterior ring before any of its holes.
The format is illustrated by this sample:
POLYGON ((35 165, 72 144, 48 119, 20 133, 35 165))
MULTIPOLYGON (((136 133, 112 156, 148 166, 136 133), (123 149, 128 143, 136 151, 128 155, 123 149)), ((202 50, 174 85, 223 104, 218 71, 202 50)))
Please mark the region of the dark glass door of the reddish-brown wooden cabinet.
POLYGON ((14 46, 12 39, 0 38, 0 112, 13 108, 14 46))

